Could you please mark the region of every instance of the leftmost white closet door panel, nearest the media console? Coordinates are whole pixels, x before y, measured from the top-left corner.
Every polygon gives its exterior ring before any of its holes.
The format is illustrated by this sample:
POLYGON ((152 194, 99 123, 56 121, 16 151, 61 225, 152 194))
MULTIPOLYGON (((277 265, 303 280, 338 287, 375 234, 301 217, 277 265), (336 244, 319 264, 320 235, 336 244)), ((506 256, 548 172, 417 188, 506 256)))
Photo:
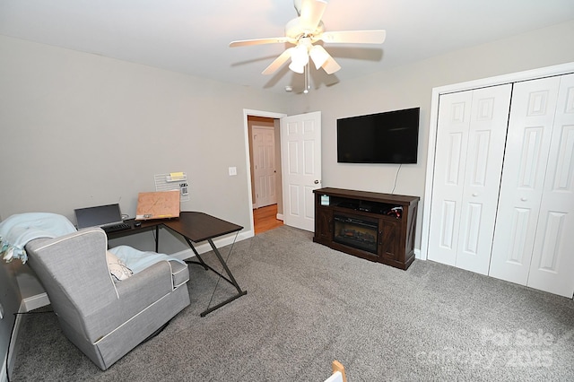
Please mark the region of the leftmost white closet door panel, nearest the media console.
POLYGON ((455 265, 473 91, 440 97, 429 260, 455 265))

